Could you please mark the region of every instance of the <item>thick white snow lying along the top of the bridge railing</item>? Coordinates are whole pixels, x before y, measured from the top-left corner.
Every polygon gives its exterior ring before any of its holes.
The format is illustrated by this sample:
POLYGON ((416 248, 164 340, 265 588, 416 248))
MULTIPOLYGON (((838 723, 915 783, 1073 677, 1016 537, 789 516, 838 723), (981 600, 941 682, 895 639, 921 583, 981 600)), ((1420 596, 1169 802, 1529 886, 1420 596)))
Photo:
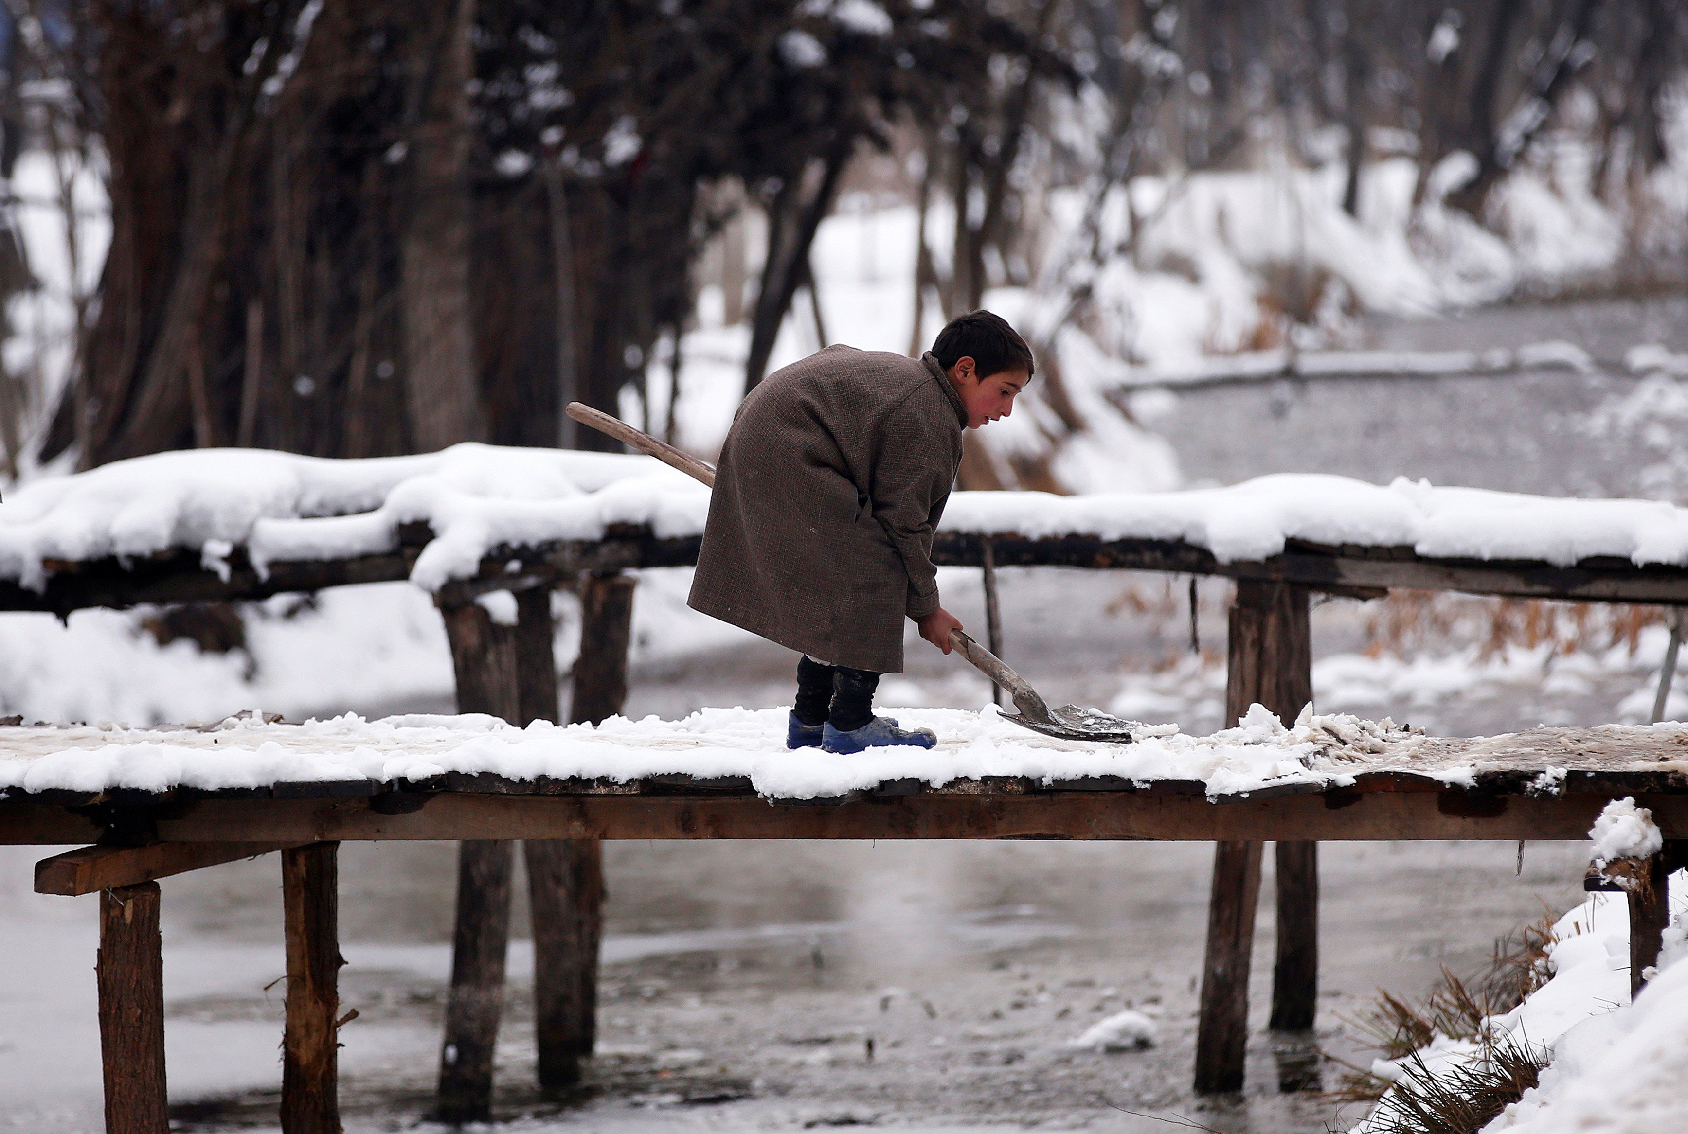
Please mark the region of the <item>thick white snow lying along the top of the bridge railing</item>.
MULTIPOLYGON (((41 591, 54 570, 106 557, 197 554, 219 574, 245 548, 273 562, 327 562, 432 540, 412 580, 437 591, 500 547, 603 540, 631 525, 658 538, 702 533, 709 493, 648 457, 454 446, 414 457, 329 461, 206 449, 118 461, 41 479, 0 505, 0 580, 41 591)), ((1555 500, 1398 478, 1274 474, 1166 493, 955 493, 940 532, 993 537, 1163 540, 1222 562, 1286 542, 1411 548, 1426 559, 1568 567, 1590 557, 1688 565, 1688 510, 1647 500, 1555 500)))

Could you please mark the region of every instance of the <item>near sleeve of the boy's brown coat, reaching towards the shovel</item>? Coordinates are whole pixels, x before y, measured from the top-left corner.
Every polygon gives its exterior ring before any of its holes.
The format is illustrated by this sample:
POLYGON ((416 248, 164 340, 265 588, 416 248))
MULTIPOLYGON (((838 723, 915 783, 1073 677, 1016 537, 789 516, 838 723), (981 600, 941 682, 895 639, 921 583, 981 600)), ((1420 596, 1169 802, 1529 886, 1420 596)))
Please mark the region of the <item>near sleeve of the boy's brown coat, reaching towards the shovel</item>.
POLYGON ((952 439, 925 410, 922 398, 906 398, 891 410, 873 476, 873 518, 891 538, 908 574, 908 618, 939 609, 932 530, 955 483, 952 439))

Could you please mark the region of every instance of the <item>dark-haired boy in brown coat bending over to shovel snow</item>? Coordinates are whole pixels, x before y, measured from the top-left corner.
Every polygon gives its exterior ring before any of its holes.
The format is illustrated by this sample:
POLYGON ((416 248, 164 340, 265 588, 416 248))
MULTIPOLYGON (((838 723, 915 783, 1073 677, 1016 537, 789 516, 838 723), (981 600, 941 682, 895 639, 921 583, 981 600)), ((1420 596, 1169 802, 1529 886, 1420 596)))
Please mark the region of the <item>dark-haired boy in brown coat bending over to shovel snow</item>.
POLYGON ((903 668, 903 616, 944 653, 932 530, 962 429, 1008 417, 1031 349, 987 310, 920 359, 829 346, 763 380, 738 410, 687 604, 803 655, 787 748, 932 748, 930 729, 873 716, 903 668))

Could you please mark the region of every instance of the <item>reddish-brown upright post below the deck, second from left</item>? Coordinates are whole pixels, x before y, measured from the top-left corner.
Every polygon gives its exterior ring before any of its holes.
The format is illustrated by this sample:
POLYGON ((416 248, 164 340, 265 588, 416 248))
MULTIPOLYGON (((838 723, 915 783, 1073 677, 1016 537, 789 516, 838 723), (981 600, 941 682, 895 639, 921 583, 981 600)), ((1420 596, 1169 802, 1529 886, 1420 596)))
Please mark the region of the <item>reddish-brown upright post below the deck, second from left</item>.
POLYGON ((287 1029, 282 1038, 284 1134, 339 1134, 338 842, 282 850, 287 925, 287 1029))

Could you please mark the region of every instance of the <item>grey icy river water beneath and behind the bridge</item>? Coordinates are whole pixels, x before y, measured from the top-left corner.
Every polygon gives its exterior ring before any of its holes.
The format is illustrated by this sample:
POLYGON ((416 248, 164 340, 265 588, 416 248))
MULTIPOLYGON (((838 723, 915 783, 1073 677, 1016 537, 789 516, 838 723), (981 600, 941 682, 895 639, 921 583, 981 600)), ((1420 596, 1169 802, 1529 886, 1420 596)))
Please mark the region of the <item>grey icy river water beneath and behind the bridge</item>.
MULTIPOLYGON (((1644 491, 1674 474, 1674 439, 1592 432, 1588 422, 1636 390, 1639 380, 1620 364, 1631 346, 1688 349, 1685 314, 1688 305, 1673 299, 1377 324, 1377 348, 1572 339, 1602 375, 1232 386, 1178 395, 1155 427, 1192 479, 1328 471, 1556 494, 1644 491)), ((957 614, 977 621, 976 579, 947 572, 945 587, 957 614)), ((1045 570, 1004 572, 1003 587, 1006 653, 1055 702, 1107 705, 1123 673, 1155 670, 1173 677, 1143 685, 1136 712, 1190 731, 1219 724, 1217 670, 1177 668, 1190 634, 1182 584, 1045 570)), ((1207 584, 1202 602, 1200 645, 1222 650, 1222 584, 1207 584)), ((1315 656, 1357 651, 1367 611, 1320 606, 1315 656)), ((763 645, 652 662, 633 675, 628 710, 782 704, 792 665, 792 655, 763 645)), ((1354 707, 1440 732, 1595 724, 1614 719, 1642 680, 1614 668, 1558 673, 1551 685, 1546 677, 1545 668, 1501 673, 1485 678, 1480 697, 1433 700, 1421 697, 1425 680, 1408 695, 1391 692, 1406 685, 1379 678, 1379 700, 1354 707)), ((1347 692, 1330 680, 1330 697, 1359 697, 1352 680, 1347 692)), ((906 675, 886 680, 885 700, 972 705, 982 690, 976 675, 920 648, 906 675)), ((1166 1126, 1156 1119, 1175 1115, 1236 1134, 1312 1134, 1352 1122, 1359 1109, 1281 1094, 1280 1068, 1305 1077, 1313 1045, 1367 1063, 1347 1021, 1377 987, 1411 996, 1442 965, 1475 969, 1492 938, 1578 898, 1580 856, 1578 845, 1533 844, 1516 872, 1512 844, 1327 844, 1318 1033, 1278 1046, 1264 1031, 1268 881, 1249 1087, 1239 1099, 1204 1102, 1188 1080, 1205 844, 614 844, 589 1090, 560 1110, 533 1095, 532 962, 520 940, 498 1110, 511 1129, 628 1134, 864 1124, 1158 1131, 1166 1126), (1117 1055, 1067 1046, 1128 1006, 1158 1019, 1156 1046, 1117 1055)), ((0 850, 0 1129, 96 1131, 93 899, 30 894, 35 857, 35 849, 0 850)), ((454 847, 348 845, 341 862, 343 996, 360 1011, 343 1033, 348 1129, 407 1129, 425 1112, 437 1068, 454 847)), ((279 888, 273 857, 164 883, 170 1082, 182 1129, 275 1126, 279 888)), ((1322 1082, 1334 1085, 1339 1072, 1323 1065, 1322 1082)))

